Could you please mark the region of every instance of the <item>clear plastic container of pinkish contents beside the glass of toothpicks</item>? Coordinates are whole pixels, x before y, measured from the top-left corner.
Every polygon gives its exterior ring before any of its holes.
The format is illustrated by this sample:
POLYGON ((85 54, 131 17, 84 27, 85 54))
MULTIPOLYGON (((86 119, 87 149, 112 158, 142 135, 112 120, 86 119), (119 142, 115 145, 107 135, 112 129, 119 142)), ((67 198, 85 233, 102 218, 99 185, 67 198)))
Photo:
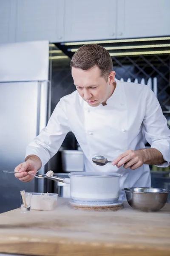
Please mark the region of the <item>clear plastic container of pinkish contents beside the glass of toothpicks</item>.
POLYGON ((32 193, 31 210, 51 211, 57 206, 58 194, 32 193))

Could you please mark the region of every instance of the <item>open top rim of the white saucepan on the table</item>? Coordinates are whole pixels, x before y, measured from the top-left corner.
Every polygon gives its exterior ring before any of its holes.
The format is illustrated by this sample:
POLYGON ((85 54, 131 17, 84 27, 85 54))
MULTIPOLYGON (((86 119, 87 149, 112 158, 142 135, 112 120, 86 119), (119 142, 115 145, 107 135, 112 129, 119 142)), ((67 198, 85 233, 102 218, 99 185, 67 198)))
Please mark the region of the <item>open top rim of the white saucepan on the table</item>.
POLYGON ((118 177, 116 172, 70 172, 68 176, 86 176, 86 177, 118 177))

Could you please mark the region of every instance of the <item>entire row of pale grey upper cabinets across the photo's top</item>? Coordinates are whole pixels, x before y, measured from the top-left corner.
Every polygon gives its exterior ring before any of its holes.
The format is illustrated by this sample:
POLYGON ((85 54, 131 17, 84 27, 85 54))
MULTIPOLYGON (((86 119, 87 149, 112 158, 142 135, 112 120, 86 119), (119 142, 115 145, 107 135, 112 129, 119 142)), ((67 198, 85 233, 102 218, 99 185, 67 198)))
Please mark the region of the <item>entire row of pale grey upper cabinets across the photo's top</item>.
POLYGON ((0 0, 0 43, 170 35, 170 0, 0 0))

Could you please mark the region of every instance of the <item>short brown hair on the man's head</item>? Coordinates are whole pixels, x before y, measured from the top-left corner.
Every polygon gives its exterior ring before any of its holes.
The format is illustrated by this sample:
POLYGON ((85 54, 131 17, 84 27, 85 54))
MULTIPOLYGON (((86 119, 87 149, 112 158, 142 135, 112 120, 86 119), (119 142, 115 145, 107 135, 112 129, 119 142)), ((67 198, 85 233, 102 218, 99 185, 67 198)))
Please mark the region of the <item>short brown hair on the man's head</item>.
POLYGON ((101 76, 106 80, 113 69, 112 58, 109 52, 98 44, 84 44, 71 59, 72 67, 89 70, 94 66, 101 70, 101 76))

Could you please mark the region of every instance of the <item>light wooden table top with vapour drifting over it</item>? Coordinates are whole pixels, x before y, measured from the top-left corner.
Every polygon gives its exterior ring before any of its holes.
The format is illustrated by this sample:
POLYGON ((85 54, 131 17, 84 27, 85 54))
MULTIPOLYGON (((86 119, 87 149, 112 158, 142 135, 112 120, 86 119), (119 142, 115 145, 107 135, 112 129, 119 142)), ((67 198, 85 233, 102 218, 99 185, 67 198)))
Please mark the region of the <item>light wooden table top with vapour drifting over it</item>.
POLYGON ((0 214, 0 253, 41 256, 170 256, 170 204, 158 212, 128 207, 72 209, 59 198, 55 211, 20 209, 0 214))

